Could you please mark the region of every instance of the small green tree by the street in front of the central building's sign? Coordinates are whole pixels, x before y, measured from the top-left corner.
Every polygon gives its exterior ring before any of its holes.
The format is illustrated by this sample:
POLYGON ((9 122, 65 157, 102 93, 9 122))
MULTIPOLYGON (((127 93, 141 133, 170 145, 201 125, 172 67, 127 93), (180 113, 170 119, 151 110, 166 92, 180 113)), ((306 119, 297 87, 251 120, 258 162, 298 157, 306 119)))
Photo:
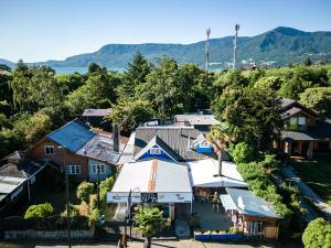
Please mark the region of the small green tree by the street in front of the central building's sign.
POLYGON ((145 247, 151 247, 151 239, 159 231, 168 227, 168 222, 162 217, 162 212, 157 207, 141 207, 139 206, 136 217, 137 229, 139 229, 146 237, 145 247))

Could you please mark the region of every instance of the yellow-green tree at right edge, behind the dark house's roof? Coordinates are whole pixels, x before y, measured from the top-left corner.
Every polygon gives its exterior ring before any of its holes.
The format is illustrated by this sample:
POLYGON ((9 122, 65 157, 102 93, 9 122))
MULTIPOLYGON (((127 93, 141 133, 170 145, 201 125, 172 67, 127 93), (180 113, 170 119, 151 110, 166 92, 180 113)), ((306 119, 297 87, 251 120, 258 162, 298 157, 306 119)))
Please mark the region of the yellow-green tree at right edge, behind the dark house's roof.
POLYGON ((300 94, 300 103, 321 117, 331 117, 331 87, 308 88, 300 94))

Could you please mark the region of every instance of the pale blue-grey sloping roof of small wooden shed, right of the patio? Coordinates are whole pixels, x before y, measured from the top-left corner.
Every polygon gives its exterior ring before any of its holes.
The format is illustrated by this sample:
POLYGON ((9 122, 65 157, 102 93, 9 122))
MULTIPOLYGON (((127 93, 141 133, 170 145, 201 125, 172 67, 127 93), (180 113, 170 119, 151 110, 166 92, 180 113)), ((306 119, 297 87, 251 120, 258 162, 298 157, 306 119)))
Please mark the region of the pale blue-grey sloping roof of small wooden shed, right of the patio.
POLYGON ((281 218, 280 215, 276 214, 271 204, 256 196, 253 192, 229 187, 226 191, 239 213, 257 217, 281 218))

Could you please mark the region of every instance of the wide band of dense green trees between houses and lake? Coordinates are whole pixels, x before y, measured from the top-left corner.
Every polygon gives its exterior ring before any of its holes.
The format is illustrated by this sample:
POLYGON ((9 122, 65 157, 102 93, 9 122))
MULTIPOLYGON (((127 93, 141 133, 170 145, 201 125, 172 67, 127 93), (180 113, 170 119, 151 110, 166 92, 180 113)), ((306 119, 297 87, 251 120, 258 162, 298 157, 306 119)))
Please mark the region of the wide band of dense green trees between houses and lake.
MULTIPOLYGON (((195 64, 179 65, 166 56, 150 64, 138 53, 124 73, 107 72, 96 64, 90 64, 84 75, 55 75, 47 66, 28 66, 22 62, 15 69, 1 66, 0 155, 28 148, 79 117, 85 108, 113 108, 109 118, 127 133, 150 117, 171 119, 174 114, 212 108, 218 119, 254 134, 252 126, 238 123, 247 121, 255 127, 260 119, 258 111, 236 107, 245 101, 252 109, 260 109, 258 105, 267 105, 277 96, 298 99, 322 117, 330 117, 331 65, 310 61, 305 64, 211 72, 206 76, 195 64)), ((236 132, 238 139, 242 132, 236 132)), ((256 136, 246 139, 253 142, 256 136)))

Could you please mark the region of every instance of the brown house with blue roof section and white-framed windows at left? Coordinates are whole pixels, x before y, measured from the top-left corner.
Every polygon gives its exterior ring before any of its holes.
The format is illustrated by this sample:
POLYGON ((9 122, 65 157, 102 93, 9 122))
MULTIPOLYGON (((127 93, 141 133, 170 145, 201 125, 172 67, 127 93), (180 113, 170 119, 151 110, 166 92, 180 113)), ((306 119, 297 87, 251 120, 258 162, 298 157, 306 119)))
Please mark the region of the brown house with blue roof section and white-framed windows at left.
POLYGON ((77 180, 104 180, 116 172, 127 140, 119 133, 96 132, 75 119, 39 140, 28 150, 38 161, 52 161, 77 180))

